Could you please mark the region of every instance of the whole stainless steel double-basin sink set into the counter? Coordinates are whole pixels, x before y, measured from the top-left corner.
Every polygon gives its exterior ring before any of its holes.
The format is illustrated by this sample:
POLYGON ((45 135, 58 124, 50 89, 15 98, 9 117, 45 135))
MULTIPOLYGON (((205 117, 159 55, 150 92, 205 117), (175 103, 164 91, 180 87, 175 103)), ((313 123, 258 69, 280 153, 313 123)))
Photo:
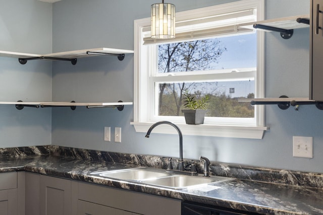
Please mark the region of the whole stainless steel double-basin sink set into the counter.
POLYGON ((105 172, 93 172, 91 175, 172 189, 186 189, 192 186, 214 184, 234 179, 221 176, 203 177, 200 175, 181 175, 169 173, 166 170, 153 168, 131 168, 105 172))

